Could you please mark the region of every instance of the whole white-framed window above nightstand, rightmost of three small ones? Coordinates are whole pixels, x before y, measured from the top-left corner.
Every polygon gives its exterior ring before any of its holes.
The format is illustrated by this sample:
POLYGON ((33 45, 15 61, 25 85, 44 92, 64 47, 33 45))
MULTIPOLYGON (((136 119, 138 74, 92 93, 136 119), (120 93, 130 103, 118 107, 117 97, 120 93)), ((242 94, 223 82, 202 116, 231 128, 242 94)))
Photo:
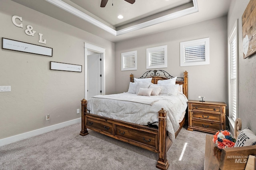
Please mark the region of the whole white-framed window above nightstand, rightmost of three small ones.
POLYGON ((180 43, 180 66, 210 64, 209 37, 180 43))

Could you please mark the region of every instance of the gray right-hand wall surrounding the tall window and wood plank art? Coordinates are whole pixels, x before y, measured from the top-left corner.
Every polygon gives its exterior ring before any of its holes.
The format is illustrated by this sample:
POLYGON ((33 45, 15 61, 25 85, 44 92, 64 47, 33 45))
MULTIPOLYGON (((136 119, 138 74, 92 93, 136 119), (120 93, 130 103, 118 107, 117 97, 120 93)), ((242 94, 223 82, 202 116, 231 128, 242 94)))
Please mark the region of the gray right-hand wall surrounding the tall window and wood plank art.
POLYGON ((238 18, 238 117, 242 127, 256 133, 256 54, 243 59, 242 15, 250 0, 232 0, 228 13, 228 35, 238 18))

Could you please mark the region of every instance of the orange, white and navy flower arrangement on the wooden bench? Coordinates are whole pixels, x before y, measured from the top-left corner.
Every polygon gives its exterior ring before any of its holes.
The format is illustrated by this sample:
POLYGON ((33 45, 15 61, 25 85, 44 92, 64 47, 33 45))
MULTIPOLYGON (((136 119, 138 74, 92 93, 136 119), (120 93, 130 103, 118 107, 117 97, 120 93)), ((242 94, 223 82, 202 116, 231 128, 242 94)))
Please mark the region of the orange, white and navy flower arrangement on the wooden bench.
POLYGON ((234 139, 230 132, 227 130, 220 130, 215 135, 213 135, 212 139, 213 143, 215 143, 218 149, 223 148, 232 148, 235 145, 236 139, 234 139))

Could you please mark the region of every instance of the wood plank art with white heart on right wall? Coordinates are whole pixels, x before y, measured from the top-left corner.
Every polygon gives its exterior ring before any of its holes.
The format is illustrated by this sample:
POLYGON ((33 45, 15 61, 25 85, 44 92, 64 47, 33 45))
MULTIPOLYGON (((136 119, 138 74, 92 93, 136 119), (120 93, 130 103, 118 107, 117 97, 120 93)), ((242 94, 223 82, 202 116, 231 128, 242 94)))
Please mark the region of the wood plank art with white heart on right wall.
POLYGON ((256 0, 250 0, 242 15, 244 59, 256 53, 256 0))

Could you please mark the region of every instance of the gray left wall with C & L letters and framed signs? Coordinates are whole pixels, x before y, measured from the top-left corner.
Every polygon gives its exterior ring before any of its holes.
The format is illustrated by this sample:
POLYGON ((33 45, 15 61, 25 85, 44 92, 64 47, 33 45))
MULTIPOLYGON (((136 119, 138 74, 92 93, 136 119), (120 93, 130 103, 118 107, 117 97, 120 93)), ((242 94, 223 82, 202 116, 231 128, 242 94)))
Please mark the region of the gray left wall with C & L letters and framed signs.
POLYGON ((11 86, 11 92, 0 93, 0 139, 80 117, 84 42, 106 49, 106 94, 114 93, 114 43, 16 2, 0 4, 0 37, 53 48, 53 57, 0 50, 0 86, 11 86), (12 23, 14 15, 22 17, 24 28, 12 23), (34 37, 26 35, 26 25, 32 25, 34 37), (46 45, 38 43, 38 33, 46 45), (50 70, 50 61, 82 65, 82 73, 50 70))

